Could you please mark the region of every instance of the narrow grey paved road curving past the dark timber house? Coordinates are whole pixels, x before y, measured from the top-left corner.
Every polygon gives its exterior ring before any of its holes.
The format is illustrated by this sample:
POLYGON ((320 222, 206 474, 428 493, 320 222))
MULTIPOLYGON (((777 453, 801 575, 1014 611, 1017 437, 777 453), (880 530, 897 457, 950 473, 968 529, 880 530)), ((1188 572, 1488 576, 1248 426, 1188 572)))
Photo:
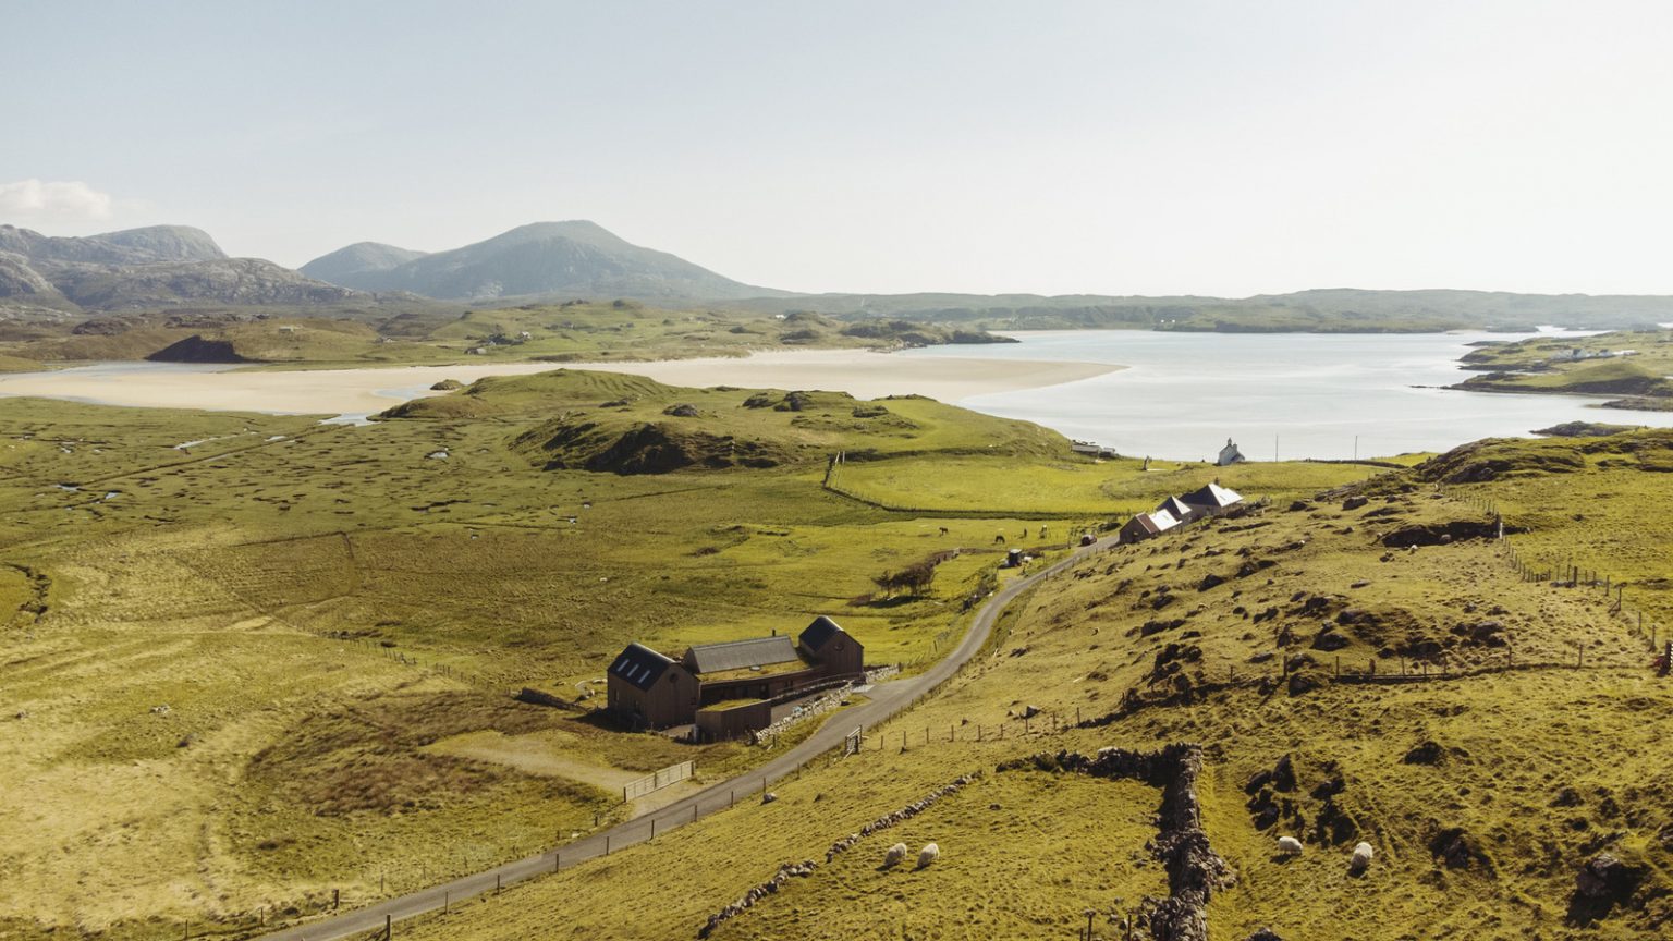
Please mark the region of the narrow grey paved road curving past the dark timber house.
POLYGON ((1057 574, 1087 553, 1108 549, 1113 544, 1114 537, 1103 539, 1092 546, 1076 549, 1074 554, 1052 566, 1012 581, 982 604, 975 620, 970 623, 970 630, 965 631, 964 640, 959 641, 959 646, 954 648, 954 651, 944 660, 935 663, 935 666, 930 666, 917 676, 907 676, 903 680, 893 680, 872 686, 872 692, 867 693, 870 702, 833 715, 825 722, 825 725, 820 727, 818 732, 803 738, 796 747, 758 769, 709 785, 691 797, 669 804, 659 810, 652 810, 634 820, 627 820, 607 830, 599 830, 586 839, 564 844, 559 851, 542 852, 540 856, 507 862, 504 866, 477 872, 475 876, 462 876, 452 882, 420 889, 417 892, 398 896, 375 906, 353 909, 328 919, 298 924, 294 928, 286 928, 284 931, 274 931, 263 936, 263 941, 338 941, 356 934, 370 936, 373 931, 383 929, 385 918, 391 921, 403 921, 418 914, 437 911, 448 901, 468 899, 472 896, 492 892, 495 886, 510 886, 512 882, 522 882, 524 879, 534 879, 535 876, 552 872, 559 862, 567 867, 576 862, 606 856, 626 846, 644 842, 654 834, 663 834, 674 827, 689 824, 698 817, 724 810, 738 799, 753 800, 765 787, 768 787, 770 782, 793 774, 805 762, 842 745, 843 738, 853 732, 857 725, 870 728, 887 722, 890 717, 912 705, 918 697, 939 686, 942 681, 964 668, 964 665, 969 663, 979 650, 982 650, 982 645, 987 643, 987 635, 994 630, 994 623, 1017 598, 1017 594, 1027 591, 1034 586, 1034 583, 1057 574))

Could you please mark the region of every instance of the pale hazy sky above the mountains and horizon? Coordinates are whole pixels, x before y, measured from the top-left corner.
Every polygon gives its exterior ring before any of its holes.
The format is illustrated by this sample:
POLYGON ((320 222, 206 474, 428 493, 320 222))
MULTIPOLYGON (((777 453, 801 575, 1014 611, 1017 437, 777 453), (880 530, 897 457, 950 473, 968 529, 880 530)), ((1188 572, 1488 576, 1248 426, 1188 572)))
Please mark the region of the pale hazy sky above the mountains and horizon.
POLYGON ((0 0, 0 221, 803 291, 1673 293, 1673 3, 0 0))

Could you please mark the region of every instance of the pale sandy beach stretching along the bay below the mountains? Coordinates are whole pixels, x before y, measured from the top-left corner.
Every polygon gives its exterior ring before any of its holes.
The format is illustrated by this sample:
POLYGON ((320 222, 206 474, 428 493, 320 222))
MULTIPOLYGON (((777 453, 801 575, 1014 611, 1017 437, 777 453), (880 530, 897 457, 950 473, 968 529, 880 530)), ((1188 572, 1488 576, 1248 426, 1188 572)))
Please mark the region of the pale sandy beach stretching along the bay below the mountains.
POLYGON ((0 395, 38 395, 104 405, 209 409, 224 412, 368 414, 433 395, 430 385, 485 375, 527 375, 596 368, 651 377, 671 385, 821 388, 858 399, 929 395, 957 402, 989 392, 1039 388, 1091 378, 1123 367, 1031 360, 910 358, 870 350, 773 350, 746 358, 642 363, 462 363, 348 370, 249 372, 182 363, 99 363, 40 373, 0 375, 0 395))

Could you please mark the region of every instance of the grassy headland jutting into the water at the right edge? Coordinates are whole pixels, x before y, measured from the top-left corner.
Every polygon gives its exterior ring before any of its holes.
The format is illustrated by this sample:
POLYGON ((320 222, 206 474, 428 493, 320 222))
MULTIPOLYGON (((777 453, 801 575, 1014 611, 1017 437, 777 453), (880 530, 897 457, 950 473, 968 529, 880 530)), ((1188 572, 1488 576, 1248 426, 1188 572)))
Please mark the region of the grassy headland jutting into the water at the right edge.
POLYGON ((1628 332, 1584 338, 1536 337, 1482 347, 1464 357, 1482 370, 1452 388, 1471 392, 1556 392, 1613 397, 1613 409, 1673 409, 1673 333, 1628 332), (1631 350, 1633 355, 1618 355, 1631 350), (1581 358, 1574 358, 1576 353, 1581 358))

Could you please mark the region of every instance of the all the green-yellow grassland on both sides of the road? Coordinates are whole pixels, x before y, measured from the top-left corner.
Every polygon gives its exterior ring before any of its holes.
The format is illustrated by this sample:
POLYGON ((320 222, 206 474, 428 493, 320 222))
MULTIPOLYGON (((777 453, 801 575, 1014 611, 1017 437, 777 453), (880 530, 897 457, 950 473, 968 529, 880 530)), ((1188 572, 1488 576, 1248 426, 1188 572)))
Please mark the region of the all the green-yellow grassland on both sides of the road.
MULTIPOLYGON (((1179 738, 1210 745, 1208 829, 1240 876, 1213 902, 1216 936, 1566 936, 1586 852, 1645 866, 1646 887, 1673 869, 1658 836, 1673 815, 1655 800, 1673 780, 1645 718, 1673 692, 1631 625, 1598 589, 1522 581, 1479 529, 1415 551, 1380 542, 1484 527, 1492 502, 1524 558, 1594 559, 1658 621, 1673 613, 1656 581, 1673 541, 1665 432, 1486 442, 1410 470, 1143 470, 925 399, 555 370, 365 427, 0 400, 0 445, 8 938, 172 938, 187 921, 248 934, 331 891, 363 904, 624 819, 641 807, 619 802, 622 779, 694 758, 701 784, 763 752, 624 733, 514 690, 587 705, 629 640, 678 653, 815 614, 868 661, 918 668, 995 584, 995 532, 1051 558, 1082 527, 1213 477, 1268 507, 1077 564, 960 676, 870 730, 860 757, 410 933, 694 933, 780 862, 823 859, 860 824, 984 770, 716 938, 882 923, 912 938, 1067 936, 1087 908, 1131 911, 1159 891, 1144 851, 1158 795, 994 765, 1179 738), (835 482, 855 496, 821 486, 836 452, 850 460, 835 482), (1342 486, 1374 501, 1287 509, 1342 486), (920 594, 873 583, 952 549, 920 594), (1477 631, 1487 620, 1499 626, 1477 631), (1327 650, 1322 633, 1342 640, 1327 650), (1558 666, 1578 653, 1583 668, 1558 666), (1302 680, 1282 675, 1290 656, 1302 680), (1347 685, 1338 656, 1524 670, 1347 685), (1046 710, 1027 728, 1007 717, 1024 705, 1046 710), (1064 730, 1099 715, 1109 723, 1064 730), (1442 764, 1405 764, 1425 740, 1442 764), (1278 797, 1278 829, 1258 829, 1243 784, 1283 753, 1303 784, 1278 797), (1328 807, 1308 795, 1337 775, 1328 807), (1563 789, 1578 800, 1553 810, 1563 789), (1469 866, 1430 854, 1450 829, 1469 866), (1308 841, 1300 861, 1273 859, 1280 830, 1308 841), (897 839, 945 856, 878 871, 897 839), (1343 876, 1355 839, 1379 849, 1363 881, 1343 876)), ((1646 896, 1588 936, 1653 933, 1665 904, 1646 896)))

